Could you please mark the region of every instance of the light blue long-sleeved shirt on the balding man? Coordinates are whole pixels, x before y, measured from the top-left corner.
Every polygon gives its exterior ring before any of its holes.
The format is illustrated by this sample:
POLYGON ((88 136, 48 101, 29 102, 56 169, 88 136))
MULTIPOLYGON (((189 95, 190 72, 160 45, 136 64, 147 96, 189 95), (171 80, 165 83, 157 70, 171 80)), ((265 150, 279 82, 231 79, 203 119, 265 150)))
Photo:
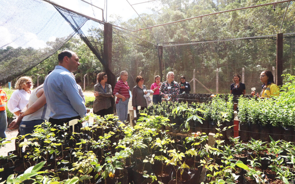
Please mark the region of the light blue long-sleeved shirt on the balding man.
POLYGON ((74 76, 66 68, 58 65, 44 81, 46 103, 50 118, 63 119, 85 116, 86 107, 79 95, 74 76))

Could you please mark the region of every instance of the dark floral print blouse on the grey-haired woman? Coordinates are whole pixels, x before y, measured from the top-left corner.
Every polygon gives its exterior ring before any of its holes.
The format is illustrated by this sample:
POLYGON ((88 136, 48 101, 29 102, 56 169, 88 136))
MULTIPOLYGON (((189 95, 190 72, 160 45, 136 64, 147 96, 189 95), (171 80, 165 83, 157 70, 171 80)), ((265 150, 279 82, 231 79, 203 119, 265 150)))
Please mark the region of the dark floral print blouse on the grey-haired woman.
POLYGON ((166 80, 162 83, 160 88, 160 95, 164 98, 165 95, 171 97, 170 101, 178 101, 179 84, 174 80, 169 84, 166 80))

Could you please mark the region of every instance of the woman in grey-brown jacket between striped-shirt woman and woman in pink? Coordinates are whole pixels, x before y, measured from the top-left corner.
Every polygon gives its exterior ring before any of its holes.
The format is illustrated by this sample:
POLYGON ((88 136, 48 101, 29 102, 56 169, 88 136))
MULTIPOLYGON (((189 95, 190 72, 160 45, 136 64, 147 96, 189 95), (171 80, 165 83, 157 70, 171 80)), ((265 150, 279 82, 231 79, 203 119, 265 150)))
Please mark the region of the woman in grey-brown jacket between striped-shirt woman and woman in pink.
POLYGON ((148 88, 143 85, 143 82, 145 79, 142 76, 137 76, 136 77, 136 83, 137 85, 134 86, 133 91, 132 91, 132 106, 133 109, 136 110, 136 113, 139 113, 139 110, 137 109, 138 106, 140 106, 140 109, 145 109, 147 108, 148 104, 145 100, 144 95, 146 95, 148 92, 148 88))

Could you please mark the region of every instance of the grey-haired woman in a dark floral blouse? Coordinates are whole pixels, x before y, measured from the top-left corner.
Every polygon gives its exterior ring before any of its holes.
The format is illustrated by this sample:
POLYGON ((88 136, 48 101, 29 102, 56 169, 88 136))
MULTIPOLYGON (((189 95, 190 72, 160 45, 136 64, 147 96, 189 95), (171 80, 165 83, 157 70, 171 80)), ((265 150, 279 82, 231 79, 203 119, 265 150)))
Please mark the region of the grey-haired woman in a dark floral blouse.
POLYGON ((167 73, 167 80, 162 83, 160 88, 160 95, 166 100, 178 101, 179 84, 174 81, 174 73, 167 73))

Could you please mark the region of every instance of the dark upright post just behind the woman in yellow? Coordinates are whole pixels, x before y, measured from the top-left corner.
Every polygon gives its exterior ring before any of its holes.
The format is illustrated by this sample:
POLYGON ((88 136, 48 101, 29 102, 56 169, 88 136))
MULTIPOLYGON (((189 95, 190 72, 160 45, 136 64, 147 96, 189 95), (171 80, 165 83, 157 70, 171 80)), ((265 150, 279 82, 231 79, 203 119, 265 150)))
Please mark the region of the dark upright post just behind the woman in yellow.
POLYGON ((276 84, 278 86, 283 85, 283 33, 277 34, 277 50, 276 50, 276 84))

